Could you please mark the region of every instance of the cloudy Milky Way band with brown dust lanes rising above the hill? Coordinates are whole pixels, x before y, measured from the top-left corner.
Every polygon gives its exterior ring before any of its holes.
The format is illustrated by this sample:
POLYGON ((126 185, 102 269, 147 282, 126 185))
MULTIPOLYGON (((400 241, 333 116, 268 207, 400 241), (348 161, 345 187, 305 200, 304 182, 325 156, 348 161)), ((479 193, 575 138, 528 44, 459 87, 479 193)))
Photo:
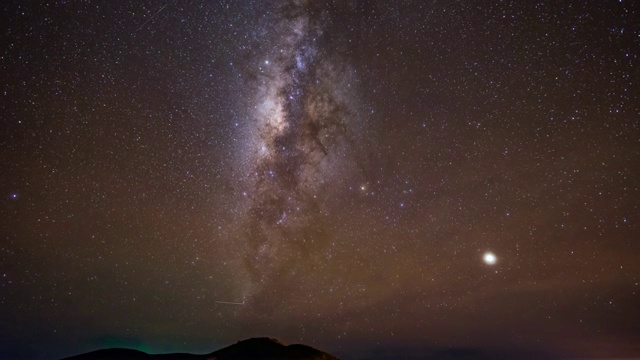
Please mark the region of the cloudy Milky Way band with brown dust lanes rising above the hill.
POLYGON ((232 240, 249 275, 243 296, 322 254, 324 201, 359 169, 357 94, 348 65, 323 49, 326 14, 307 2, 274 14, 263 20, 261 41, 270 46, 253 58, 257 70, 246 84, 257 89, 242 160, 249 203, 232 240))

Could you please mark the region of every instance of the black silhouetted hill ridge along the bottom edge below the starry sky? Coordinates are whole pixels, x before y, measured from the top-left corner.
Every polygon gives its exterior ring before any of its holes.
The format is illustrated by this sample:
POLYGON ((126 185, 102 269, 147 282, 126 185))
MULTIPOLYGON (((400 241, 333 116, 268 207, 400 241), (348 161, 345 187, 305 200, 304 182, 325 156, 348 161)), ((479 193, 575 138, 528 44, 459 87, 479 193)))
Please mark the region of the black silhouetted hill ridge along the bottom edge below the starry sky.
POLYGON ((63 360, 338 360, 310 346, 284 343, 272 338, 253 338, 205 355, 147 354, 131 349, 103 349, 63 360))

